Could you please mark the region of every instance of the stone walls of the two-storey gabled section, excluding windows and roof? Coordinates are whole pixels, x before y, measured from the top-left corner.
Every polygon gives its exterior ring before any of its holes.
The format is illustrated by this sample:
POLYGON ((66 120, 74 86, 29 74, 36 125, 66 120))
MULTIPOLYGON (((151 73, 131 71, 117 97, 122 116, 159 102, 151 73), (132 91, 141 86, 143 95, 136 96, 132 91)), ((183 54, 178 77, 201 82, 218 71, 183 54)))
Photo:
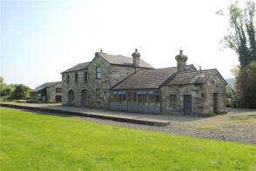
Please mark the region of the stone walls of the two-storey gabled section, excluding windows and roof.
MULTIPOLYGON (((64 105, 68 105, 68 91, 73 90, 75 99, 73 104, 82 105, 82 90, 86 89, 86 105, 92 108, 110 108, 110 90, 111 87, 130 76, 135 72, 135 68, 121 65, 113 65, 106 62, 103 57, 95 56, 88 69, 87 82, 84 82, 84 71, 66 73, 62 76, 63 82, 63 100, 64 105), (101 67, 101 79, 96 78, 96 68, 101 67), (75 74, 78 74, 78 82, 75 82, 75 74), (67 83, 67 75, 70 76, 70 83, 67 83), (100 89, 99 101, 96 99, 96 89, 100 89)), ((139 69, 144 70, 144 69, 139 69)))

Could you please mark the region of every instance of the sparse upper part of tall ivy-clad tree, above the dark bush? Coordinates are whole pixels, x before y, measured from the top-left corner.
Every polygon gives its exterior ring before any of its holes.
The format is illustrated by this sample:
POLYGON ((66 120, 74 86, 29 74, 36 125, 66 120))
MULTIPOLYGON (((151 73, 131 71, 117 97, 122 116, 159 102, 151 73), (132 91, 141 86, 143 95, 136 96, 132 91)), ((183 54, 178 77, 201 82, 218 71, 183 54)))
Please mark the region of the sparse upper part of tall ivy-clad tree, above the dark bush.
MULTIPOLYGON (((226 48, 235 50, 242 68, 256 60, 255 6, 255 2, 249 1, 246 8, 241 9, 238 2, 233 3, 228 8, 229 14, 226 15, 230 18, 230 29, 221 43, 224 43, 226 48)), ((222 10, 217 14, 225 15, 222 10)))

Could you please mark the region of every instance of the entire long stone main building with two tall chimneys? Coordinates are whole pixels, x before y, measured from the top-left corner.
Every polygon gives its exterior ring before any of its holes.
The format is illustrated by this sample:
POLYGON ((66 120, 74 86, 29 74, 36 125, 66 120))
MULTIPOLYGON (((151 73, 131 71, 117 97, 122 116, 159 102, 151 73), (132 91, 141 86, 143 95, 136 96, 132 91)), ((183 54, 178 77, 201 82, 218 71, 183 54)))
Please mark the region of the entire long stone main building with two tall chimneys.
POLYGON ((91 62, 62 73, 64 105, 171 114, 215 115, 226 112, 226 81, 217 69, 197 70, 187 56, 177 67, 153 69, 140 59, 101 52, 91 62))

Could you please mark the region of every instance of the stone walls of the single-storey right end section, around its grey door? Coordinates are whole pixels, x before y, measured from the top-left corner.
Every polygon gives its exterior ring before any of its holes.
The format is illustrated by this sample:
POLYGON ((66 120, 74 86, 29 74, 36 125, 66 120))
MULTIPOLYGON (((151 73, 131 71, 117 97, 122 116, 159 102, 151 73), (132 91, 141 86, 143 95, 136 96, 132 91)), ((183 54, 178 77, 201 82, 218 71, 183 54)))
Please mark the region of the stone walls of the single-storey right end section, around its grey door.
POLYGON ((163 86, 161 111, 164 114, 183 115, 184 95, 192 95, 192 115, 216 115, 213 113, 213 93, 218 93, 218 113, 226 112, 226 84, 217 73, 210 76, 205 84, 163 86), (177 95, 177 104, 170 105, 170 95, 177 95))

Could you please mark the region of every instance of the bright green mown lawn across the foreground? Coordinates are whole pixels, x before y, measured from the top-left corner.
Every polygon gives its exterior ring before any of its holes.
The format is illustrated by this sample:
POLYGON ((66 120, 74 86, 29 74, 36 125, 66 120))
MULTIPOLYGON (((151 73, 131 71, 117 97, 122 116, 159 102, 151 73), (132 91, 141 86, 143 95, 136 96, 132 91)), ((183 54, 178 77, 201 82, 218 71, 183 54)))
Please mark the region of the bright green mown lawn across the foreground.
MULTIPOLYGON (((1 109, 1 170, 256 170, 256 146, 1 109)), ((253 130, 252 130, 253 131, 253 130)))

